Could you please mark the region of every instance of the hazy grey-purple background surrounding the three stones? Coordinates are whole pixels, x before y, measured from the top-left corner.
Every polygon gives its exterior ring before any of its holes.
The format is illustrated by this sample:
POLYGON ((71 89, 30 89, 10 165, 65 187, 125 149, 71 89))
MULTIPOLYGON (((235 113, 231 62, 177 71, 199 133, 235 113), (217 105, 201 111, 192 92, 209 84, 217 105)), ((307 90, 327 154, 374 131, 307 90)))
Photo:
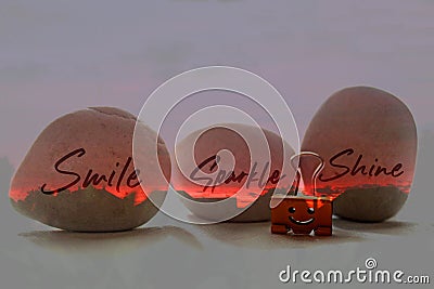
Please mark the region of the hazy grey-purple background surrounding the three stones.
POLYGON ((284 288, 286 265, 352 270, 368 257, 433 278, 433 14, 432 1, 1 0, 1 288, 284 288), (302 136, 339 89, 400 96, 420 140, 400 213, 375 225, 336 220, 333 238, 294 239, 267 223, 193 226, 163 214, 129 233, 72 234, 11 209, 13 170, 54 118, 94 105, 138 114, 163 81, 205 65, 269 80, 302 136))

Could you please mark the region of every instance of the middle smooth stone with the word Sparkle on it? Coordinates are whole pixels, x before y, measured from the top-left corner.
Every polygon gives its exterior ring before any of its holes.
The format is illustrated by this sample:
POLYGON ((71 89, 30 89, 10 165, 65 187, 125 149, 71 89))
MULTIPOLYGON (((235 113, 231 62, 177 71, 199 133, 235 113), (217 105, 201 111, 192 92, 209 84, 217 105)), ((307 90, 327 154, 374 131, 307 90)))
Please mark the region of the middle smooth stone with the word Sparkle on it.
POLYGON ((268 221, 275 189, 291 191, 295 171, 289 159, 293 155, 293 148, 271 131, 241 123, 216 124, 177 144, 171 184, 182 200, 194 201, 184 205, 204 220, 268 221), (224 166, 230 162, 228 155, 233 157, 232 168, 224 166))

